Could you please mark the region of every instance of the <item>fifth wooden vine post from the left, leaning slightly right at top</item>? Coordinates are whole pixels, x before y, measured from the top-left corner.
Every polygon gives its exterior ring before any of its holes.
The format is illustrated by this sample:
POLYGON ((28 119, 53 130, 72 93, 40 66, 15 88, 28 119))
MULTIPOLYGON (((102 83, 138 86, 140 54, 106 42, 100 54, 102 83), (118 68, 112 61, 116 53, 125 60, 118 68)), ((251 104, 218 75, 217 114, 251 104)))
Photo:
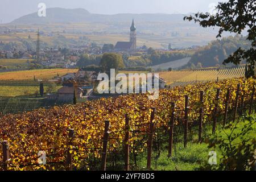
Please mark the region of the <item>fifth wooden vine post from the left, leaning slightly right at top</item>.
POLYGON ((151 108, 151 115, 150 115, 150 133, 147 142, 147 169, 151 168, 151 155, 152 155, 152 142, 154 136, 154 118, 155 118, 155 107, 151 108))

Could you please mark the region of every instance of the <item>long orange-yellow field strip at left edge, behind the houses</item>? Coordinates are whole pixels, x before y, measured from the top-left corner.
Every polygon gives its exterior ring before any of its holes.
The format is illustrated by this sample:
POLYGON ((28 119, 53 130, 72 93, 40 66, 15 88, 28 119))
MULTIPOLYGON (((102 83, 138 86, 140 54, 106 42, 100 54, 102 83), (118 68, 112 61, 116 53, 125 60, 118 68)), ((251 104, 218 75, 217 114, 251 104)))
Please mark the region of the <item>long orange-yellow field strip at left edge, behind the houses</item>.
POLYGON ((63 76, 66 73, 77 72, 77 69, 33 69, 28 71, 3 72, 0 73, 0 80, 34 80, 36 79, 52 79, 53 77, 63 76))

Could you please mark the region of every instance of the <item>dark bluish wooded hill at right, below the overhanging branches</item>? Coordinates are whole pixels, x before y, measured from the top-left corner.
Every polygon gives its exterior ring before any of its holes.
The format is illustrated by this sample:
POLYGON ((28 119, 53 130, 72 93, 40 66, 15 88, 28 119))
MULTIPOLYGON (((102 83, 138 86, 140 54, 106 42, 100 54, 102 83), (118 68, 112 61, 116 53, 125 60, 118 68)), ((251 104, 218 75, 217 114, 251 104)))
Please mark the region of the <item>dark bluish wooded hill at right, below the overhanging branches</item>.
POLYGON ((208 46, 201 47, 189 60, 187 67, 219 67, 238 48, 249 49, 250 42, 245 36, 229 36, 214 40, 208 46))

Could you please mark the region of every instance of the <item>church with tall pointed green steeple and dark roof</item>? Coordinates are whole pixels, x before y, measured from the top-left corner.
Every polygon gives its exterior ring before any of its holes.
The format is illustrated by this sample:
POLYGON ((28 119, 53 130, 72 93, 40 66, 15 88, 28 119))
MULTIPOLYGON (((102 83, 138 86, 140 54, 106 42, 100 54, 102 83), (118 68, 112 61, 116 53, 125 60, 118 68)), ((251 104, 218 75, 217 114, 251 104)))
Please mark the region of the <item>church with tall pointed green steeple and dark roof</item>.
POLYGON ((119 52, 119 51, 135 51, 137 44, 136 44, 137 40, 136 40, 136 27, 134 24, 134 19, 133 19, 133 23, 131 23, 131 27, 130 27, 130 42, 117 42, 117 44, 115 44, 115 51, 119 52))

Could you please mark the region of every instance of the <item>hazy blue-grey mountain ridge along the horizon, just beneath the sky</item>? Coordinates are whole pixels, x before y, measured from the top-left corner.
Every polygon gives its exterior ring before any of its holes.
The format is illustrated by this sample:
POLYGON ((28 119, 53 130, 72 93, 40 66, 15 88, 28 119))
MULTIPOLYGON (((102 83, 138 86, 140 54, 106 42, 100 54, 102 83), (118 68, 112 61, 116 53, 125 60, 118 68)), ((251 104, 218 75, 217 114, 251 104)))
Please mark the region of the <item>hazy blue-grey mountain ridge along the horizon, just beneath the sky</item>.
MULTIPOLYGON (((84 9, 63 9, 59 7, 47 9, 46 17, 39 17, 38 13, 24 15, 11 23, 15 24, 40 24, 40 23, 79 23, 79 22, 130 22, 136 19, 138 22, 172 22, 182 23, 183 14, 91 14, 84 9)), ((187 24, 191 24, 186 22, 187 24)))

